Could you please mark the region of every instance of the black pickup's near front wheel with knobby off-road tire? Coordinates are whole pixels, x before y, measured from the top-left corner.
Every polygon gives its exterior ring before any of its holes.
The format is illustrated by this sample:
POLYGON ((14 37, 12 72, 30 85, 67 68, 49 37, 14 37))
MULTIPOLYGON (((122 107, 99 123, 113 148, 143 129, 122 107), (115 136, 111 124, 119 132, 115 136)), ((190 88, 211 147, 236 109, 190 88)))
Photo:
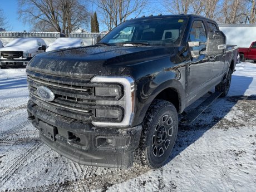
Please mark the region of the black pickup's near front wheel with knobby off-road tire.
POLYGON ((178 114, 171 102, 154 100, 142 122, 136 162, 151 169, 163 166, 173 150, 178 133, 178 114))

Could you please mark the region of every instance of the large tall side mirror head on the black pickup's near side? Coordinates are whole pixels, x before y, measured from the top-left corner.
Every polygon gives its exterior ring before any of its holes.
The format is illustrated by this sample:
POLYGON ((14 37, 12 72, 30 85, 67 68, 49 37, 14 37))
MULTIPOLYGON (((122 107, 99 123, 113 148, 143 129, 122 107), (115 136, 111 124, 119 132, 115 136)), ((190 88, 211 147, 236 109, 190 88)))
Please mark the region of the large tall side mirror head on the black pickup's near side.
POLYGON ((206 43, 206 55, 223 54, 226 51, 227 38, 222 31, 209 31, 206 43))

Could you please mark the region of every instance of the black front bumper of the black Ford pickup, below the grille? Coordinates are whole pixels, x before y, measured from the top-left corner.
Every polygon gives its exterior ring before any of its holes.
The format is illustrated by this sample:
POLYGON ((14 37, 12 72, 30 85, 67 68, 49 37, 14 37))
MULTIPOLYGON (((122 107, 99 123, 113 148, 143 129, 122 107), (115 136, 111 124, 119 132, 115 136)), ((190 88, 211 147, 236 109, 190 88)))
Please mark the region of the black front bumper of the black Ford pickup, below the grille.
POLYGON ((40 130, 41 140, 68 159, 110 168, 132 166, 141 125, 127 129, 97 128, 45 110, 31 100, 27 110, 32 124, 40 130))

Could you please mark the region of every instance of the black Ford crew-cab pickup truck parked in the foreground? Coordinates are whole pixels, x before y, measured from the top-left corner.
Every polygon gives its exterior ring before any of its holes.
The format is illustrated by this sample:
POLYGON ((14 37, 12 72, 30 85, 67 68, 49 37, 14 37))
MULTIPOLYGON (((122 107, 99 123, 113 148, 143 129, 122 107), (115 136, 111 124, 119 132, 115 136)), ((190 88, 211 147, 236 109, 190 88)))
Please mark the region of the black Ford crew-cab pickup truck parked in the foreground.
POLYGON ((210 19, 130 19, 94 46, 33 57, 28 119, 46 145, 78 163, 159 168, 175 144, 178 114, 214 87, 226 96, 236 60, 210 19))

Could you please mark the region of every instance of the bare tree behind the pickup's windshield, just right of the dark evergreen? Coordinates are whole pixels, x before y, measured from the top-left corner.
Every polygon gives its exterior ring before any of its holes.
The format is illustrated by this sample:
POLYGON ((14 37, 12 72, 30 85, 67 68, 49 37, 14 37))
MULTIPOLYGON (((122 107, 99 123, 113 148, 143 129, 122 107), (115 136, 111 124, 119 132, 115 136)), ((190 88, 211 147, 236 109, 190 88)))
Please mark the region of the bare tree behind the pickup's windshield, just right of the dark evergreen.
POLYGON ((109 31, 118 24, 126 21, 127 17, 139 14, 146 7, 146 0, 98 0, 97 7, 100 8, 101 22, 107 26, 109 31))

